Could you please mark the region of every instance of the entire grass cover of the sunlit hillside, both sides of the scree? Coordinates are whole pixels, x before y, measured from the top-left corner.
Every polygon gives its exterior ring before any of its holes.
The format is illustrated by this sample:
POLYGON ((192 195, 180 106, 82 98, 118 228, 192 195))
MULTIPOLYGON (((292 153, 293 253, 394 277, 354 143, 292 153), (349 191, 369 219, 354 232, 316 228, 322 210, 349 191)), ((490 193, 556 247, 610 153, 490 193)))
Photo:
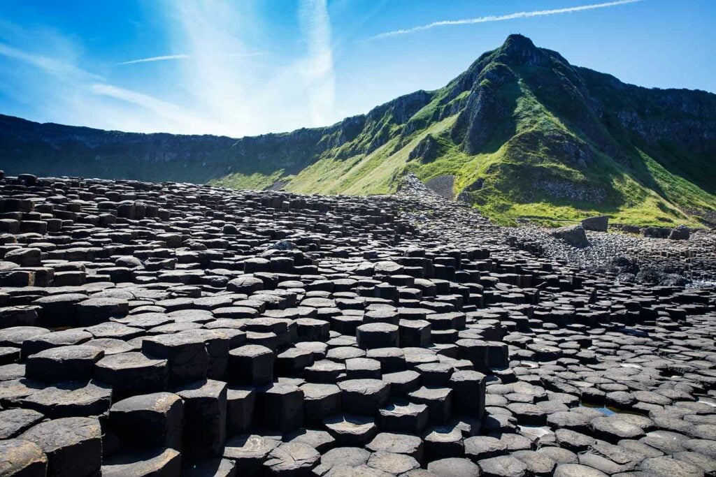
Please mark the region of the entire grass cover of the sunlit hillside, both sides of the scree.
MULTIPOLYGON (((463 197, 503 223, 527 219, 563 225, 607 214, 617 223, 698 225, 698 218, 688 212, 716 210, 716 196, 703 187, 708 182, 700 187, 695 179, 698 169, 708 162, 705 157, 670 144, 640 147, 633 138, 614 136, 596 117, 588 118, 592 133, 596 130, 597 137, 618 143, 632 156, 626 162, 615 159, 605 151, 604 143, 600 146, 590 139, 594 134, 588 136, 577 125, 584 111, 574 104, 574 97, 545 95, 539 82, 554 82, 549 76, 554 71, 543 67, 513 68, 516 81, 495 86, 487 79, 494 66, 485 68, 478 81, 480 87, 494 86, 500 104, 513 108, 508 113, 509 124, 514 123, 515 130, 511 137, 488 144, 477 154, 466 153, 465 147, 456 144, 451 136, 457 113, 436 119, 443 109, 461 104, 470 94, 466 90, 448 101, 455 85, 451 82, 432 92, 432 101, 410 118, 411 124, 420 125, 410 134, 405 134, 404 124, 397 124, 386 113, 371 130, 341 147, 325 150, 297 174, 283 175, 280 170, 248 176, 232 174, 215 183, 265 188, 281 180, 287 181, 285 188, 292 192, 367 195, 394 192, 405 172, 413 172, 423 181, 450 174, 455 176, 456 191, 465 190, 463 197), (541 99, 536 91, 541 93, 541 99), (365 150, 377 134, 385 139, 382 146, 369 153, 355 153, 365 150), (412 149, 427 134, 438 144, 437 157, 427 161, 410 159, 412 149), (563 153, 573 149, 586 152, 588 159, 575 161, 563 153), (476 181, 480 185, 470 187, 476 181), (568 192, 560 195, 541 186, 545 183, 568 192), (584 195, 575 196, 584 191, 584 195)), ((606 98, 607 102, 616 100, 608 95, 606 98)))

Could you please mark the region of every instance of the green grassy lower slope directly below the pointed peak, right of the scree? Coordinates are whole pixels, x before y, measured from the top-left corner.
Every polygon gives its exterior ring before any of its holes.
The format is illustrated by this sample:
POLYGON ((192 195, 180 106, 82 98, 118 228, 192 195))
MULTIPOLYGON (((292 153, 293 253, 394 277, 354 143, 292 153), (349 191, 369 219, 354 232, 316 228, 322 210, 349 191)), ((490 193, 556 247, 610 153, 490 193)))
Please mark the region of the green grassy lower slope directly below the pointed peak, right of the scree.
MULTIPOLYGON (((659 184, 662 195, 645 185, 647 182, 633 171, 618 164, 606 154, 596 152, 597 160, 581 169, 571 167, 548 151, 530 142, 521 142, 521 136, 537 133, 543 137, 554 132, 580 141, 579 134, 560 121, 540 104, 521 83, 522 95, 518 99, 515 116, 517 134, 498 152, 483 159, 483 177, 486 187, 475 194, 475 202, 487 215, 498 222, 511 223, 528 219, 548 225, 575 222, 590 215, 607 214, 614 222, 636 225, 697 225, 695 218, 682 210, 687 208, 711 209, 715 197, 692 185, 682 177, 667 171, 654 159, 642 153, 649 172, 659 184), (546 154, 544 154, 546 153, 546 154), (485 167, 485 164, 495 167, 485 167), (559 199, 539 194, 525 196, 523 191, 533 188, 533 177, 555 177, 577 187, 604 190, 606 197, 599 201, 559 199), (691 206, 691 207, 689 207, 691 206)), ((594 144, 590 144, 596 149, 594 144)))

